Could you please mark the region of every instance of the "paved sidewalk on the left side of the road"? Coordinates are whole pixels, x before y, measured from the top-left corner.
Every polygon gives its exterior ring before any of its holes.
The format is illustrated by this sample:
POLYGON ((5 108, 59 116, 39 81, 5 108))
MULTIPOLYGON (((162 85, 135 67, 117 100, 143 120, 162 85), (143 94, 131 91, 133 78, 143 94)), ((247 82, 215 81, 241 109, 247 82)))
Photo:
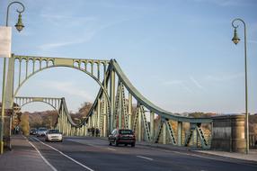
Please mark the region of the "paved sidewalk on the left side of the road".
POLYGON ((22 135, 12 136, 11 143, 13 149, 0 155, 1 171, 51 170, 25 137, 22 135))

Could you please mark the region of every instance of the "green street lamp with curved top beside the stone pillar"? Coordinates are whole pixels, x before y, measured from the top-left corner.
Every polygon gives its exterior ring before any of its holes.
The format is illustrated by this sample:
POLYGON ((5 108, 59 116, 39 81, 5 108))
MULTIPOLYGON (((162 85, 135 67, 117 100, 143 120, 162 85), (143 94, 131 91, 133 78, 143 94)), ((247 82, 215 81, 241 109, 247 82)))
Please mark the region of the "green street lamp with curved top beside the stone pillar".
POLYGON ((248 123, 248 91, 247 91, 247 56, 246 56, 246 25, 244 21, 240 18, 236 18, 235 20, 232 21, 232 26, 234 27, 234 37, 233 37, 233 42, 235 45, 240 41, 239 37, 237 36, 236 29, 239 25, 235 25, 235 22, 242 22, 244 24, 244 83, 245 83, 245 122, 246 122, 246 147, 245 147, 245 152, 246 154, 249 153, 249 123, 248 123))

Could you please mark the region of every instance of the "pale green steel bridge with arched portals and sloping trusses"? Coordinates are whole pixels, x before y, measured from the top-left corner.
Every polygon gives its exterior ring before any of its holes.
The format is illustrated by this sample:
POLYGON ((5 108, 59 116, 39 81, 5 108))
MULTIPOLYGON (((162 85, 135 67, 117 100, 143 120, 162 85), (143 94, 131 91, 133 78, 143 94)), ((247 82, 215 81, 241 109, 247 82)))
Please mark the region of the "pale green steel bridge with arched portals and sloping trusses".
MULTIPOLYGON (((8 86, 5 89, 4 99, 6 108, 13 109, 16 95, 31 76, 51 67, 75 68, 91 76, 100 85, 90 112, 79 124, 71 120, 65 99, 58 100, 57 126, 66 135, 74 135, 75 132, 85 135, 86 128, 93 127, 101 130, 101 136, 107 137, 114 128, 128 128, 137 133, 138 141, 172 143, 176 146, 210 147, 210 134, 206 135, 202 128, 202 124, 211 125, 210 118, 185 117, 167 112, 151 103, 130 83, 115 59, 48 58, 13 54, 8 63, 6 83, 8 86), (132 99, 137 103, 135 115, 132 115, 132 99), (147 114, 149 114, 150 124, 146 120, 147 114), (155 115, 161 118, 157 124, 155 124, 155 115), (185 130, 183 125, 188 123, 190 126, 185 130), (157 131, 155 128, 158 128, 157 131)), ((27 98, 37 100, 37 97, 27 98)), ((43 97, 40 98, 38 97, 38 100, 42 100, 40 102, 47 102, 43 97)))

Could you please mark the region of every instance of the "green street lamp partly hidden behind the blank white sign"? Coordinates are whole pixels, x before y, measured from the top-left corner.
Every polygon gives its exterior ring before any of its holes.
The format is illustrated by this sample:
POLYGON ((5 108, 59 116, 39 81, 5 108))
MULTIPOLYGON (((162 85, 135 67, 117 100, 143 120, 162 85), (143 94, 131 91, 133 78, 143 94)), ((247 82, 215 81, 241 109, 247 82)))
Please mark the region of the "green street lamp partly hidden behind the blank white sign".
MULTIPOLYGON (((19 13, 18 23, 15 24, 17 31, 22 31, 24 25, 22 23, 22 13, 25 10, 25 7, 20 2, 12 2, 7 6, 7 14, 6 14, 6 24, 5 26, 8 27, 8 19, 9 19, 9 8, 12 4, 21 4, 22 10, 16 9, 16 12, 19 13)), ((2 87, 2 120, 1 120, 1 132, 0 132, 0 154, 4 153, 4 98, 5 98, 5 67, 6 67, 6 58, 4 58, 4 68, 3 68, 3 87, 2 87)))

